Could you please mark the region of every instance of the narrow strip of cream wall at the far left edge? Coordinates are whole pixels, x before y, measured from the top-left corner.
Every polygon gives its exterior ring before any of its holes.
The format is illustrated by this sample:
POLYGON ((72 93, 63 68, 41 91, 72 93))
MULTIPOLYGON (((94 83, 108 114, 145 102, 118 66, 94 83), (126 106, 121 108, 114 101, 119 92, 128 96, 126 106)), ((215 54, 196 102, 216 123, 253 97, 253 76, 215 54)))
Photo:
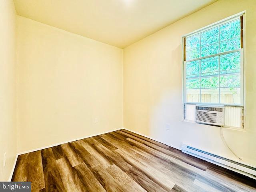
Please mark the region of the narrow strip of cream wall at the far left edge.
POLYGON ((7 181, 16 156, 16 12, 0 2, 0 181, 7 181), (6 152, 6 166, 3 166, 6 152))

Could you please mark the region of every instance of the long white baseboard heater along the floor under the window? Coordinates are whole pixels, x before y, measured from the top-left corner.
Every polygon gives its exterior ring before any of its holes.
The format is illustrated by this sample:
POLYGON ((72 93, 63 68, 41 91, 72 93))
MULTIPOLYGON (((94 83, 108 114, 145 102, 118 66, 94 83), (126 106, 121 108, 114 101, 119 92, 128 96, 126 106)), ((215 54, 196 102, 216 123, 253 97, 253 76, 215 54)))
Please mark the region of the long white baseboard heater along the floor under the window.
POLYGON ((182 152, 256 179, 256 167, 182 144, 182 152))

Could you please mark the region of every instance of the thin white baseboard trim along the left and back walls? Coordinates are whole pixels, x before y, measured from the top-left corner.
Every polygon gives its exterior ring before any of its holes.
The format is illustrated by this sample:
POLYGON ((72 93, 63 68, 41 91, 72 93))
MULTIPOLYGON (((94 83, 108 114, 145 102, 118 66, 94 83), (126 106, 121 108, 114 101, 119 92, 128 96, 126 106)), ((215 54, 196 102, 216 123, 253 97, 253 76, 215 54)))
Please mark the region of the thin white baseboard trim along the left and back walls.
POLYGON ((121 128, 118 128, 118 129, 109 130, 109 131, 101 132, 101 133, 98 133, 98 134, 93 134, 93 135, 89 135, 89 136, 84 136, 84 137, 80 137, 80 138, 76 138, 76 139, 72 139, 72 140, 68 140, 68 141, 64 141, 64 142, 59 142, 59 143, 55 143, 55 144, 52 144, 52 145, 48 145, 48 146, 44 146, 44 147, 40 147, 40 148, 28 150, 28 151, 19 152, 19 153, 16 154, 16 157, 15 157, 15 160, 14 160, 14 164, 13 164, 13 166, 12 166, 12 171, 11 171, 11 173, 10 173, 10 177, 9 177, 9 180, 8 180, 8 181, 11 181, 11 180, 12 180, 12 175, 13 175, 14 168, 15 168, 15 166, 16 166, 16 162, 17 162, 17 159, 18 159, 18 156, 19 156, 19 155, 26 154, 26 153, 31 153, 31 152, 38 151, 38 150, 43 150, 43 149, 46 149, 46 148, 58 146, 58 145, 61 145, 61 144, 65 144, 65 143, 69 143, 69 142, 73 142, 73 141, 77 141, 77 140, 81 140, 81 139, 85 139, 85 138, 89 138, 89 137, 94 137, 94 136, 106 134, 106 133, 113 132, 113 131, 117 131, 117 130, 120 130, 120 129, 124 129, 124 128, 121 127, 121 128))

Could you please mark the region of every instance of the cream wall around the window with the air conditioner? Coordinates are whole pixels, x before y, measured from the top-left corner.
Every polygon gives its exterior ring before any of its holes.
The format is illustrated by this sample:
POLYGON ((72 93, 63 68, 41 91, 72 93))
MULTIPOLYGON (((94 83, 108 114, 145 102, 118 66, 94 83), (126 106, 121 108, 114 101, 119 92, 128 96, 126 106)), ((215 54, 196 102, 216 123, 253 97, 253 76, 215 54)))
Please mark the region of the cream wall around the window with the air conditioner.
POLYGON ((256 165, 256 1, 219 0, 124 49, 124 127, 170 146, 185 142, 234 158, 219 128, 183 122, 182 35, 246 10, 246 132, 224 129, 230 147, 256 165), (170 131, 166 130, 170 124, 170 131))

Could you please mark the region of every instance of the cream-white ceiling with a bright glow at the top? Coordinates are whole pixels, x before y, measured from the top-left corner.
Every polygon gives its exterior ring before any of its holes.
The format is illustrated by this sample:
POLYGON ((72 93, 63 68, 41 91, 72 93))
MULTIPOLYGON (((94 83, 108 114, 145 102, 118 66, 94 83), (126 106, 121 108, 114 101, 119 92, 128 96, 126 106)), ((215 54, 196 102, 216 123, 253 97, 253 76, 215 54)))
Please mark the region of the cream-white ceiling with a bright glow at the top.
POLYGON ((216 0, 14 0, 20 16, 125 48, 216 0))

